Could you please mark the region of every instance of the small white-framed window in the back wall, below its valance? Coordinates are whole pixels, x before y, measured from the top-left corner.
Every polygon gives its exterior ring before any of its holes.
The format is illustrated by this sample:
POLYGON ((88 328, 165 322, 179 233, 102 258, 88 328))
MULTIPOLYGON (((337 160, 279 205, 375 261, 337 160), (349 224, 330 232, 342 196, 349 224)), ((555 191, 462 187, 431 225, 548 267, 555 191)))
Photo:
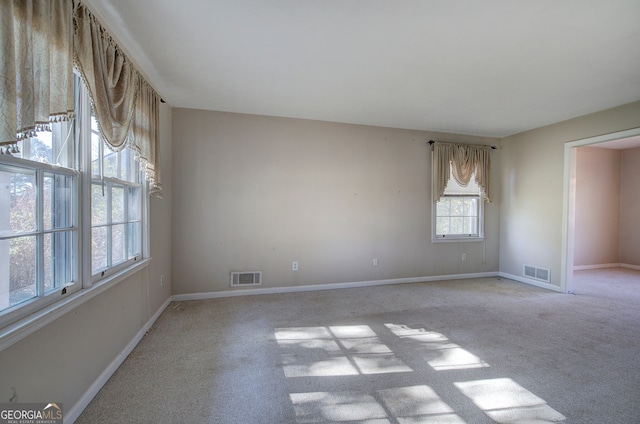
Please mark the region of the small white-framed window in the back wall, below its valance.
POLYGON ((434 202, 433 240, 477 240, 484 236, 484 202, 474 176, 466 187, 451 174, 444 194, 434 202))

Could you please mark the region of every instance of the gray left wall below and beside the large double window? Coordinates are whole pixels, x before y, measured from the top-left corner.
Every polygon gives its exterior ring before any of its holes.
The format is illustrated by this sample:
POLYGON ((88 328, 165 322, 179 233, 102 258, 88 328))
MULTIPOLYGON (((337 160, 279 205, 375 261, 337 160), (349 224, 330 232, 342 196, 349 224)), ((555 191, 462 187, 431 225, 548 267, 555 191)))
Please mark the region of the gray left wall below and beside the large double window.
MULTIPOLYGON (((171 108, 161 106, 161 170, 171 181, 171 108)), ((62 402, 69 411, 171 295, 171 184, 150 204, 148 268, 0 352, 0 402, 62 402), (160 286, 160 275, 165 284, 160 286)))

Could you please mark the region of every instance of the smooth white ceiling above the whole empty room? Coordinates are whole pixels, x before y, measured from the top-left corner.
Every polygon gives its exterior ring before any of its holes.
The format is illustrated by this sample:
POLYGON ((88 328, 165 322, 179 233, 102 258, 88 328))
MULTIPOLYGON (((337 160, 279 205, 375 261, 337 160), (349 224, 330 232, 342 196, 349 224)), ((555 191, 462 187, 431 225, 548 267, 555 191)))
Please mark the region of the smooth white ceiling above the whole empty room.
POLYGON ((640 100, 638 0, 85 0, 173 107, 503 137, 640 100))

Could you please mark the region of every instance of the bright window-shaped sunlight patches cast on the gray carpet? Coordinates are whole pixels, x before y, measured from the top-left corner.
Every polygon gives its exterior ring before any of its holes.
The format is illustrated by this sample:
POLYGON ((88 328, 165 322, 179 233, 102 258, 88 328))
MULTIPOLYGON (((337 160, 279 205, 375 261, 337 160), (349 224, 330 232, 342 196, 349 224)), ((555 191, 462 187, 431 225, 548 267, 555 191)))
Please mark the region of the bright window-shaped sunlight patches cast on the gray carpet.
MULTIPOLYGON (((385 324, 399 337, 402 349, 424 359, 433 370, 484 368, 489 365, 443 334, 426 328, 385 324)), ((279 328, 287 377, 357 376, 413 371, 382 343, 367 325, 279 328)), ((498 423, 561 422, 561 413, 510 378, 453 383, 484 414, 498 423)), ((315 391, 290 393, 298 423, 461 424, 456 414, 429 386, 385 387, 369 393, 315 391)))

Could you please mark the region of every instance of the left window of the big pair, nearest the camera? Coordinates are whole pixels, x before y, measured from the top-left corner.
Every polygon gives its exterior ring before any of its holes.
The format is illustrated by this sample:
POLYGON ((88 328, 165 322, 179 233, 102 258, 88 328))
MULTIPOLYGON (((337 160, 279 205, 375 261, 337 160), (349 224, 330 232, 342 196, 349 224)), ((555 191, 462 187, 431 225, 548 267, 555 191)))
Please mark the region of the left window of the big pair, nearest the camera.
POLYGON ((52 124, 0 156, 0 322, 77 286, 78 180, 73 126, 52 124))

